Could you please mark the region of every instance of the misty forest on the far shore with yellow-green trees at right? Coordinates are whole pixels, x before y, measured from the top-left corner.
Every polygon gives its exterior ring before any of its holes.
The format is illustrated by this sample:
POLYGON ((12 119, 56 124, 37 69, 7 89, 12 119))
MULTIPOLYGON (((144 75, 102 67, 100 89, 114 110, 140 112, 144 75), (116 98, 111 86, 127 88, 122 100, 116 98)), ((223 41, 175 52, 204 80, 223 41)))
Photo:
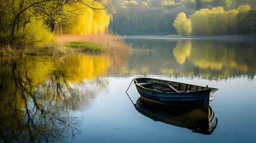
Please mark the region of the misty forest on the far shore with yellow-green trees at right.
POLYGON ((120 35, 256 33, 253 0, 113 0, 110 29, 120 35))

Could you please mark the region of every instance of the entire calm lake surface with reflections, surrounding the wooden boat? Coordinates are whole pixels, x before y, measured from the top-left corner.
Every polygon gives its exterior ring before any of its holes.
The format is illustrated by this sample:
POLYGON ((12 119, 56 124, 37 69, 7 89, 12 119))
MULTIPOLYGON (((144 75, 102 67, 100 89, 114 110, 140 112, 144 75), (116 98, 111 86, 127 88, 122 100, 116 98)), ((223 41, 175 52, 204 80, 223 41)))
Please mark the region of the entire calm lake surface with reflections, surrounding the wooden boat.
POLYGON ((255 40, 126 41, 136 49, 127 56, 2 59, 1 142, 256 140, 255 40), (125 93, 137 76, 218 88, 211 103, 215 129, 210 135, 192 129, 201 122, 197 119, 201 110, 180 113, 148 108, 148 114, 141 114, 132 104, 140 102, 135 85, 125 93), (154 118, 162 112, 169 119, 154 118))

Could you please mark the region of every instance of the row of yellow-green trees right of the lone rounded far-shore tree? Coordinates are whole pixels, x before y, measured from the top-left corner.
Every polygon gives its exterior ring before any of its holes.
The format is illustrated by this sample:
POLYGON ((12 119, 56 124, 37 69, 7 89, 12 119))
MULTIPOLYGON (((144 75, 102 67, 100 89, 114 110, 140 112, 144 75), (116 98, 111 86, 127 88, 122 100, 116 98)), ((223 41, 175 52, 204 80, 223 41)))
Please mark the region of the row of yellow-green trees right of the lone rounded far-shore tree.
MULTIPOLYGON (((236 10, 225 11, 223 7, 207 8, 190 15, 193 35, 223 35, 226 33, 249 33, 246 18, 249 5, 241 5, 236 10)), ((252 16, 253 17, 253 16, 252 16)), ((249 18, 252 19, 252 18, 249 18)))

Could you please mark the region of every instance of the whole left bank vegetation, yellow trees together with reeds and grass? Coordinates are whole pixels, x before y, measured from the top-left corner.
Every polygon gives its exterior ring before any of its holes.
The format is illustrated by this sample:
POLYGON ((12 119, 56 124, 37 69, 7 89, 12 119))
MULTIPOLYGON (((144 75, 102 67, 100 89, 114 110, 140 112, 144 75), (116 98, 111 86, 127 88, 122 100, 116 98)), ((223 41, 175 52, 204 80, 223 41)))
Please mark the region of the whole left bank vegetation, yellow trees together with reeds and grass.
POLYGON ((106 32, 113 12, 106 0, 5 0, 0 3, 0 57, 99 54, 118 51, 116 45, 128 48, 106 32))

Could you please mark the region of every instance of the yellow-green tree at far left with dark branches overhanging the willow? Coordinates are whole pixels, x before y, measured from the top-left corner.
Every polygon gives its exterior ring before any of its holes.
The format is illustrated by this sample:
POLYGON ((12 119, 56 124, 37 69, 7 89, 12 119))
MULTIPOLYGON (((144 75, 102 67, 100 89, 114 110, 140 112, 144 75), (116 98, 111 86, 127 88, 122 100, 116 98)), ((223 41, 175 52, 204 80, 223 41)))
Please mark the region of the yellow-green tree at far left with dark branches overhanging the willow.
POLYGON ((53 41, 55 24, 83 15, 88 9, 96 13, 110 10, 106 4, 105 0, 6 0, 0 4, 0 39, 11 45, 16 41, 47 44, 53 41), (75 7, 78 4, 82 6, 75 7))

